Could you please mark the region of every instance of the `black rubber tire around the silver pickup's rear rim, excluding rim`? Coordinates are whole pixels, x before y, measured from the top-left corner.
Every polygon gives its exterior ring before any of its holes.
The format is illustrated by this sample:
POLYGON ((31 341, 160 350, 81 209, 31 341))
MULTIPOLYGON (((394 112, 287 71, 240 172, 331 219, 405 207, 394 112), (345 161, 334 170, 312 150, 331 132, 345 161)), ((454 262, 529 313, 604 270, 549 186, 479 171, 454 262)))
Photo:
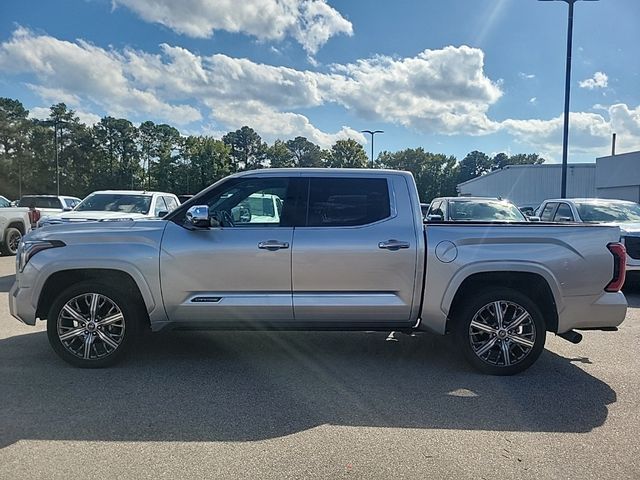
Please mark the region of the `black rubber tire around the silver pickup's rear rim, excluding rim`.
POLYGON ((456 314, 456 318, 454 318, 454 322, 456 343, 461 348, 462 353, 469 363, 483 373, 490 375, 514 375, 523 372, 535 363, 544 350, 547 332, 544 317, 542 316, 540 309, 527 295, 511 288, 489 288, 476 293, 459 310, 456 314), (471 347, 471 342, 469 341, 469 326, 476 312, 485 305, 498 300, 504 300, 521 305, 531 315, 536 329, 536 340, 532 351, 524 360, 508 367, 490 365, 484 362, 475 354, 471 347))

